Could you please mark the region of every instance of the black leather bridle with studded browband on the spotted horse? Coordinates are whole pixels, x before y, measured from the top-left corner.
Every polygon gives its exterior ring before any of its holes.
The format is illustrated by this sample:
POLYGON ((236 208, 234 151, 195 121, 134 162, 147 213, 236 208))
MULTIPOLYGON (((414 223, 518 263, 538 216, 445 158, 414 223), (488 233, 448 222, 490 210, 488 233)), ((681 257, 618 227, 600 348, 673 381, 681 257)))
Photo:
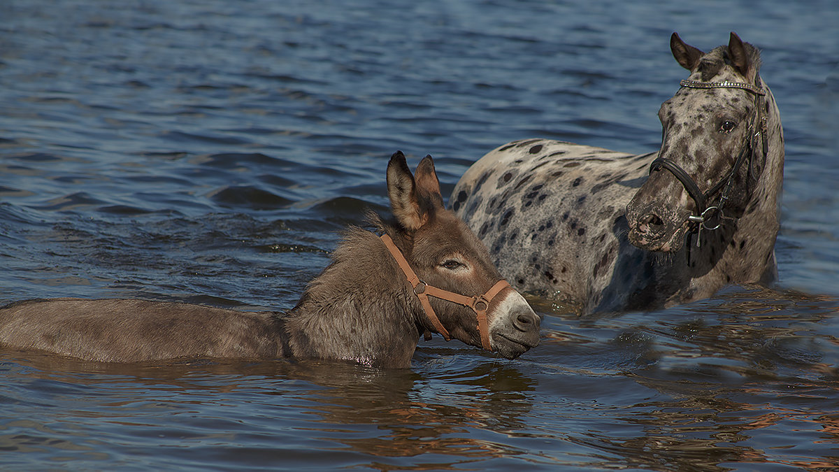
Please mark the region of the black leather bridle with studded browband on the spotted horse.
MULTIPOLYGON (((756 84, 760 83, 760 78, 755 78, 756 84)), ((729 81, 722 81, 722 82, 702 82, 702 81, 680 81, 680 85, 682 87, 689 87, 689 88, 739 88, 743 89, 747 92, 751 92, 754 94, 754 113, 752 118, 748 123, 748 129, 746 134, 746 142, 743 143, 743 147, 740 149, 740 154, 737 155, 737 159, 734 160, 734 165, 732 169, 727 172, 725 176, 722 176, 722 179, 717 181, 716 184, 711 186, 708 191, 703 192, 700 190, 699 186, 696 185, 696 181, 693 180, 690 175, 685 172, 684 169, 680 167, 680 165, 676 164, 673 160, 670 160, 666 157, 659 157, 649 165, 649 173, 652 174, 656 170, 666 169, 669 170, 675 178, 681 182, 682 186, 685 187, 685 190, 690 195, 690 198, 696 203, 696 214, 690 215, 687 219, 691 223, 696 223, 694 225, 693 230, 691 233, 696 232, 699 233, 701 228, 714 230, 722 226, 722 219, 727 218, 722 212, 723 207, 728 200, 728 193, 731 191, 732 181, 734 181, 734 176, 737 175, 737 172, 743 167, 743 163, 746 162, 748 159, 749 161, 749 172, 752 171, 752 160, 754 156, 754 151, 756 149, 756 144, 758 139, 761 139, 763 143, 763 155, 767 155, 769 151, 769 142, 766 139, 766 117, 763 116, 763 97, 766 95, 766 91, 763 90, 763 87, 759 87, 758 85, 751 85, 748 83, 743 82, 729 82, 729 81), (708 206, 708 202, 711 201, 711 198, 720 193, 719 201, 716 205, 708 206), (709 221, 711 218, 718 217, 717 224, 714 226, 709 225, 709 221)), ((735 218, 727 218, 727 219, 735 219, 735 218)), ((699 246, 699 239, 696 239, 696 246, 699 246)))

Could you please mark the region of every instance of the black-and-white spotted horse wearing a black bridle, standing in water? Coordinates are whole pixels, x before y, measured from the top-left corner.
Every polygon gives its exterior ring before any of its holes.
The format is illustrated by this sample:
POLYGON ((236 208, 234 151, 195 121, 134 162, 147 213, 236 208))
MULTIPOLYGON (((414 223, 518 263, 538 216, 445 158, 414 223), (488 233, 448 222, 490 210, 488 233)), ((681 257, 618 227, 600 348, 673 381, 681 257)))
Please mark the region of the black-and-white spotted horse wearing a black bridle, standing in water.
POLYGON ((661 106, 658 153, 525 139, 457 183, 451 207, 519 290, 623 311, 777 277, 784 132, 759 52, 734 33, 670 49, 690 77, 661 106))

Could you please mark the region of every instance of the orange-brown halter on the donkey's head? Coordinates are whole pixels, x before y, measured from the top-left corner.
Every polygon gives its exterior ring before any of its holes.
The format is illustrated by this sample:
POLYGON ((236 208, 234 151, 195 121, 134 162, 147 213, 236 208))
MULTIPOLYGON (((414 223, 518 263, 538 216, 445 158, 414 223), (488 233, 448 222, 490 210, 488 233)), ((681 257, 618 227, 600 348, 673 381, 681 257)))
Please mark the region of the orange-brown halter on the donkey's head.
MULTIPOLYGON (((489 323, 487 322, 487 310, 489 309, 489 304, 492 303, 492 299, 495 298, 495 296, 498 296, 498 294, 504 289, 509 288, 512 290, 510 284, 502 279, 496 282, 495 285, 493 285, 481 296, 465 296, 453 291, 446 291, 435 286, 430 286, 424 281, 421 281, 420 277, 416 275, 416 272, 411 269, 408 260, 405 259, 402 251, 396 247, 396 244, 393 244, 393 239, 391 239, 390 236, 383 234, 380 238, 382 239, 385 247, 388 248, 390 255, 393 256, 394 260, 396 260, 399 268, 402 269, 402 272, 408 279, 408 283, 411 285, 414 294, 420 299, 420 304, 422 304, 422 307, 425 310, 425 316, 429 318, 431 324, 434 325, 437 332, 442 334, 446 341, 451 339, 451 335, 449 335, 448 330, 446 330, 443 326, 443 323, 440 323, 440 318, 437 317, 437 314, 434 312, 434 308, 431 307, 431 303, 428 299, 429 296, 434 296, 435 298, 440 298, 440 300, 446 300, 447 302, 457 303, 458 305, 472 308, 472 311, 475 312, 475 315, 477 316, 477 328, 481 333, 481 344, 483 349, 492 351, 492 346, 489 344, 489 323)), ((426 328, 425 339, 428 340, 430 338, 431 333, 428 328, 426 328)))

